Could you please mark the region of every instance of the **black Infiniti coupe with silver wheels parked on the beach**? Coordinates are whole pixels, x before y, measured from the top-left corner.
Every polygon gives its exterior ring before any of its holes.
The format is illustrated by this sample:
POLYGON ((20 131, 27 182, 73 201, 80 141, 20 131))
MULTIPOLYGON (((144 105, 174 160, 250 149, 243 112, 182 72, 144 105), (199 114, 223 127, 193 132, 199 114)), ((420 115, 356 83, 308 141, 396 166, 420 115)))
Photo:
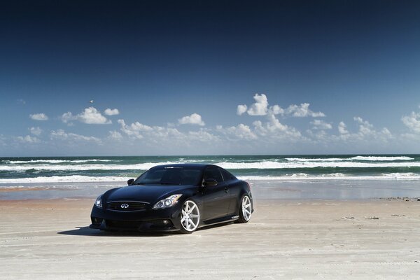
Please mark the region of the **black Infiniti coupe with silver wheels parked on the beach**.
POLYGON ((253 212, 249 184, 216 165, 159 165, 127 183, 97 198, 90 228, 191 233, 253 212))

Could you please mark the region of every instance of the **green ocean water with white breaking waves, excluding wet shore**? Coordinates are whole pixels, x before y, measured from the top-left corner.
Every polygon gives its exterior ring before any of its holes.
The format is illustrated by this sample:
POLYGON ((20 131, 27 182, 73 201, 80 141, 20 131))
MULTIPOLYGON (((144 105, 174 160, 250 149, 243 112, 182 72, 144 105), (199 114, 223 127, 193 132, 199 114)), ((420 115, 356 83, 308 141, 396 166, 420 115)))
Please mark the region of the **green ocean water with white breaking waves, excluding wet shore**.
POLYGON ((0 158, 0 184, 125 181, 172 163, 211 163, 253 181, 420 179, 420 155, 124 156, 0 158))

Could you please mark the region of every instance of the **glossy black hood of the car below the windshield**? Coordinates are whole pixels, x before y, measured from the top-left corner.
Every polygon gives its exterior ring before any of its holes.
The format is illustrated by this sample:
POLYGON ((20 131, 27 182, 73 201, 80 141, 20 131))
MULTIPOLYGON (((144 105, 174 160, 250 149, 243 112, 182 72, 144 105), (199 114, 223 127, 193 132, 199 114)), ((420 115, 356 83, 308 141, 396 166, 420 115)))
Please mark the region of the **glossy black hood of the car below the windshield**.
POLYGON ((158 200, 162 200, 165 197, 181 193, 183 194, 185 190, 190 188, 197 188, 196 186, 179 186, 179 185, 135 185, 127 186, 123 188, 115 188, 109 190, 104 195, 106 202, 111 201, 141 201, 154 203, 158 200))

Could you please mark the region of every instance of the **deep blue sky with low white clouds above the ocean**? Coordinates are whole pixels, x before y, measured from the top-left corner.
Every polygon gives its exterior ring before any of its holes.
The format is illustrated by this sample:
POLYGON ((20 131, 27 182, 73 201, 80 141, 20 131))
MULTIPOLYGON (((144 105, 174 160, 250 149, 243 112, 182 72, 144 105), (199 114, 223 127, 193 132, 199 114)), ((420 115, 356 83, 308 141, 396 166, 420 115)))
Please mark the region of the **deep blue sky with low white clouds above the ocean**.
POLYGON ((1 3, 0 156, 419 153, 419 10, 1 3))

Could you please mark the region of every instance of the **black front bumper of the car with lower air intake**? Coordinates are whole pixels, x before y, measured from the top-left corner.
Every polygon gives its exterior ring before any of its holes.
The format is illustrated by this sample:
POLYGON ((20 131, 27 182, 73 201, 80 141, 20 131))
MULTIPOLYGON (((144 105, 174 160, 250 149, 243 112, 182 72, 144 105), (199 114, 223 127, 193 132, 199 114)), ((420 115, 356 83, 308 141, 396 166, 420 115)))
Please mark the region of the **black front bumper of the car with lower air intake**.
POLYGON ((92 208, 89 228, 97 230, 135 230, 172 232, 181 229, 181 205, 167 209, 144 209, 139 211, 113 211, 92 208))

